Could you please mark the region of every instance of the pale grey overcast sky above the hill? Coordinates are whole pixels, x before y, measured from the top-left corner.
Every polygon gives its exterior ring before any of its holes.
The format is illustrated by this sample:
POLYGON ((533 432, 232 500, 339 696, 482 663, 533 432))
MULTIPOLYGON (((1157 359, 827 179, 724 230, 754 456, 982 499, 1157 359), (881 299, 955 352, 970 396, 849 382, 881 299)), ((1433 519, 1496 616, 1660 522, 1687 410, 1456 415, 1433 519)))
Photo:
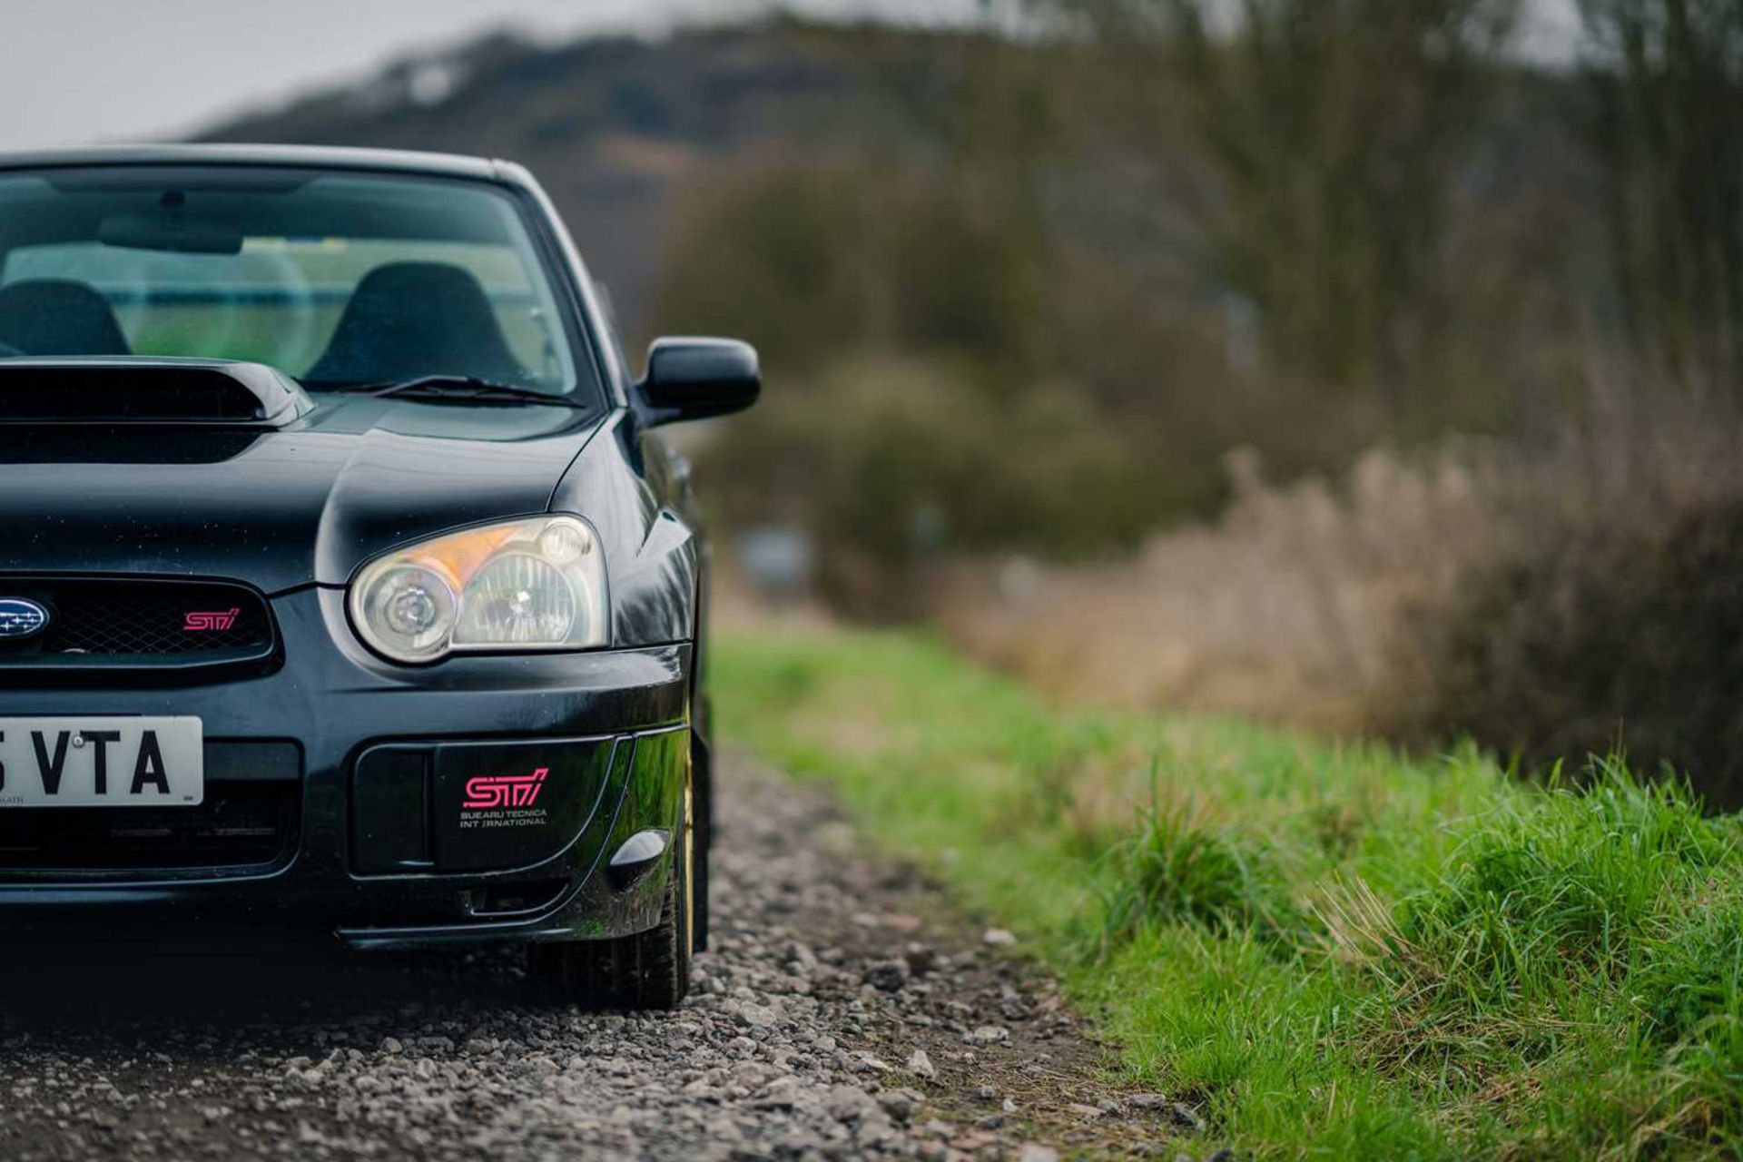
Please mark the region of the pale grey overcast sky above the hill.
MULTIPOLYGON (((1537 0, 1556 56, 1572 0, 1537 0)), ((556 38, 659 31, 769 0, 0 0, 0 150, 185 134, 387 57, 514 24, 556 38)), ((828 16, 971 17, 978 0, 788 0, 828 16)))

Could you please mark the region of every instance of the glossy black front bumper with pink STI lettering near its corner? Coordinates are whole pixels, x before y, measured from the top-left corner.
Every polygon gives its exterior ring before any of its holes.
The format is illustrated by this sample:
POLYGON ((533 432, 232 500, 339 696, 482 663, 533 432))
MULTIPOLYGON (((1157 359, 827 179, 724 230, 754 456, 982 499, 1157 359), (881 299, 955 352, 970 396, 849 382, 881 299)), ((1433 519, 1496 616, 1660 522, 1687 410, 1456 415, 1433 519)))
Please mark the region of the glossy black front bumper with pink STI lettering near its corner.
MULTIPOLYGON (((688 645, 408 671, 356 643, 338 591, 284 594, 272 610, 284 648, 267 672, 112 688, 85 674, 77 686, 0 688, 0 713, 197 716, 209 782, 275 784, 295 800, 282 850, 251 864, 0 868, 9 923, 242 920, 411 948, 605 939, 659 922, 673 845, 645 838, 631 854, 655 857, 608 864, 638 833, 676 833, 690 768, 688 645), (413 787, 411 798, 383 800, 387 782, 361 780, 371 753, 427 756, 422 789, 399 763, 392 786, 413 787), (521 760, 551 770, 525 848, 512 826, 455 833, 457 780, 521 760)), ((516 819, 498 812, 492 822, 516 819)))

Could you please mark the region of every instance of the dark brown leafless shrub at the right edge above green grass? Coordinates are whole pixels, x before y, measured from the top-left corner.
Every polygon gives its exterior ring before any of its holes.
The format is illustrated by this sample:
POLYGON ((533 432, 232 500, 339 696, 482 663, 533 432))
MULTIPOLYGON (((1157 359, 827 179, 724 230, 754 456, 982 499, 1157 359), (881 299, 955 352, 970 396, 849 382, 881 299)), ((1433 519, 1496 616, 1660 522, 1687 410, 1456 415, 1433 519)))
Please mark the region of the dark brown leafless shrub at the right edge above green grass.
POLYGON ((1539 481, 1497 509, 1489 551, 1400 624, 1415 699, 1386 725, 1527 767, 1621 749, 1743 807, 1736 427, 1663 436, 1605 484, 1539 481))

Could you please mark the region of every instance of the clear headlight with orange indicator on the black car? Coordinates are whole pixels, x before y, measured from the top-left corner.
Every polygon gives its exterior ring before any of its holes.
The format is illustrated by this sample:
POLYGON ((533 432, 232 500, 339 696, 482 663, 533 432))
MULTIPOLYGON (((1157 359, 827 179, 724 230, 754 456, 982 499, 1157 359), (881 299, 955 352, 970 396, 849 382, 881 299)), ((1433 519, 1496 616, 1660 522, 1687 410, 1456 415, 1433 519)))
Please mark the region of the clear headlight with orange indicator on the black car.
POLYGON ((371 561, 350 587, 350 620, 396 662, 603 646, 605 561, 572 516, 471 528, 371 561))

